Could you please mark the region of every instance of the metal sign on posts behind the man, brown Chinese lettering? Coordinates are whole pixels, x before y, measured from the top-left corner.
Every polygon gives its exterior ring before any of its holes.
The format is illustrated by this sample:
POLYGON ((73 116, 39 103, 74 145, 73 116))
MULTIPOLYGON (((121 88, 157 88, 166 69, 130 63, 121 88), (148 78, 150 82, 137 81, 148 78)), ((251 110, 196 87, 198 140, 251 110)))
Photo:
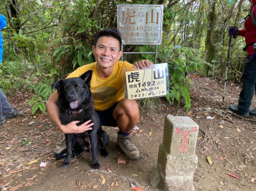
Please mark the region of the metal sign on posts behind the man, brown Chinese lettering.
POLYGON ((155 45, 154 52, 124 52, 124 54, 155 54, 162 44, 163 5, 117 5, 117 29, 122 45, 155 45))

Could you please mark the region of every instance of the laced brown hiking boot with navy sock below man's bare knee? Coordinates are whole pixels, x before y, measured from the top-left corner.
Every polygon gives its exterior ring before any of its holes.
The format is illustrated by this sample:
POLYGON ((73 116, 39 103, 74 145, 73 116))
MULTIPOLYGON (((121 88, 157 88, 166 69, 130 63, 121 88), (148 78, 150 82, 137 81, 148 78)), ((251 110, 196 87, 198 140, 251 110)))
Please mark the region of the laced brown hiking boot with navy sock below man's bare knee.
POLYGON ((117 145, 119 145, 128 159, 137 160, 140 158, 140 153, 132 143, 130 135, 117 134, 117 145))

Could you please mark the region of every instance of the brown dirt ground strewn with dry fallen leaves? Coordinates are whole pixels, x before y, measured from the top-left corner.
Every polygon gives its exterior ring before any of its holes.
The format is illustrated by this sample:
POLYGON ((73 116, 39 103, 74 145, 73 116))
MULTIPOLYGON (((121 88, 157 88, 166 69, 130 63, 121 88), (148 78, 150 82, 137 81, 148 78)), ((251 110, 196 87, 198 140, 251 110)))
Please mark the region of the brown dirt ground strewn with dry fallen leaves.
MULTIPOLYGON (((255 191, 256 118, 243 119, 227 109, 229 104, 238 102, 241 86, 227 83, 223 102, 223 82, 210 78, 192 78, 192 81, 192 108, 179 109, 178 115, 191 117, 200 127, 195 190, 255 191), (207 157, 212 158, 212 166, 207 157)), ((47 114, 30 114, 26 101, 31 97, 20 93, 8 97, 20 114, 0 126, 1 191, 128 191, 135 186, 137 190, 157 191, 149 184, 148 176, 157 167, 165 116, 176 114, 175 105, 161 99, 156 111, 140 118, 139 129, 133 132, 140 160, 128 160, 116 146, 118 129, 104 127, 111 140, 110 156, 99 157, 100 170, 91 168, 91 154, 87 152, 73 159, 68 168, 61 169, 63 160, 55 161, 52 150, 64 140, 64 134, 47 114), (41 162, 46 166, 41 167, 41 162)), ((256 107, 256 97, 252 107, 256 107)))

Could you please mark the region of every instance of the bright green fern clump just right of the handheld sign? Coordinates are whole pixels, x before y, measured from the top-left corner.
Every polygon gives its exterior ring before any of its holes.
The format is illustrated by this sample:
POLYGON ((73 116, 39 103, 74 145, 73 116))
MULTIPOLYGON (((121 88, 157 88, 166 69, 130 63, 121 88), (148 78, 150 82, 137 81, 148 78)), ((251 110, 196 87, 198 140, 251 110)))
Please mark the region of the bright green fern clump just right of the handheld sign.
POLYGON ((170 104, 176 100, 178 107, 181 98, 184 98, 184 108, 191 107, 189 89, 192 81, 185 77, 185 73, 198 71, 203 68, 204 61, 201 59, 202 52, 193 48, 177 48, 173 46, 161 46, 159 48, 159 58, 162 62, 167 62, 170 76, 170 93, 166 99, 170 104))

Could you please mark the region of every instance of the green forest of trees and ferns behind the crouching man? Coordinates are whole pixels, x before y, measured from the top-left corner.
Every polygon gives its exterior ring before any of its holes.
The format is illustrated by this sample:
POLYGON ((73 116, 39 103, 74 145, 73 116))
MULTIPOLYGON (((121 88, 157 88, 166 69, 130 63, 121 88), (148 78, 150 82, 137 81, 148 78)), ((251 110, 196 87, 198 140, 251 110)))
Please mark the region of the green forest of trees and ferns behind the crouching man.
MULTIPOLYGON (((162 45, 157 63, 167 62, 170 75, 169 103, 190 108, 191 80, 187 71, 203 77, 224 79, 230 26, 244 27, 248 0, 0 0, 0 14, 6 16, 2 29, 3 63, 0 88, 9 95, 32 92, 32 114, 43 113, 52 94, 51 84, 75 68, 94 61, 91 46, 95 34, 116 27, 117 4, 163 4, 162 45), (174 46, 183 57, 175 56, 174 46)), ((240 82, 246 53, 244 38, 232 40, 228 79, 240 82)), ((124 46, 124 51, 154 51, 154 46, 124 46)), ((151 54, 127 54, 135 60, 154 60, 151 54)), ((145 110, 155 100, 140 102, 145 110), (145 108, 147 107, 147 108, 145 108)))

